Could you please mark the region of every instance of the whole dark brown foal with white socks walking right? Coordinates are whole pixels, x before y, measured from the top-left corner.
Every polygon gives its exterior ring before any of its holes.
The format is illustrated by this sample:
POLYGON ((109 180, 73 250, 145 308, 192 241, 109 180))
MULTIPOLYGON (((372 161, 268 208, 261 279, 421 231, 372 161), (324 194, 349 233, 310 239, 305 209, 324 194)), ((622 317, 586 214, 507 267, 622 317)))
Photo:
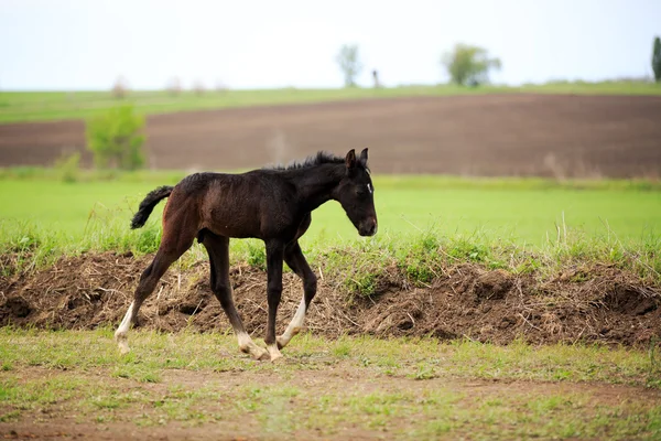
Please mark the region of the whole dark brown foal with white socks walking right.
POLYGON ((359 158, 351 149, 346 158, 318 152, 286 168, 253 170, 242 174, 195 173, 174 187, 162 186, 140 203, 131 228, 140 228, 154 206, 169 197, 163 211, 163 237, 140 282, 115 338, 129 352, 127 333, 138 310, 167 268, 192 245, 202 243, 209 255, 212 290, 220 301, 237 335, 239 348, 256 359, 275 361, 299 333, 316 293, 316 276, 310 269, 299 238, 312 222, 311 213, 329 200, 340 203, 361 236, 377 233, 373 186, 367 168, 367 149, 359 158), (229 239, 253 237, 267 248, 268 322, 264 343, 256 345, 234 304, 229 282, 229 239), (282 262, 303 280, 303 299, 284 333, 275 336, 275 314, 282 293, 282 262))

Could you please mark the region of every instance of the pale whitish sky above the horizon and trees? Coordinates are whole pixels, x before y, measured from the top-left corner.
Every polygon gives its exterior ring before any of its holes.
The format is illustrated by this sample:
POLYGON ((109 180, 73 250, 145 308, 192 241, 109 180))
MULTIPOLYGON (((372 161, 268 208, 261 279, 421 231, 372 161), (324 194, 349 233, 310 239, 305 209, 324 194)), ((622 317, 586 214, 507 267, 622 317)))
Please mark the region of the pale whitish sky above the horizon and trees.
POLYGON ((651 75, 661 0, 0 0, 0 89, 339 87, 357 43, 370 85, 446 82, 456 42, 500 57, 494 83, 651 75))

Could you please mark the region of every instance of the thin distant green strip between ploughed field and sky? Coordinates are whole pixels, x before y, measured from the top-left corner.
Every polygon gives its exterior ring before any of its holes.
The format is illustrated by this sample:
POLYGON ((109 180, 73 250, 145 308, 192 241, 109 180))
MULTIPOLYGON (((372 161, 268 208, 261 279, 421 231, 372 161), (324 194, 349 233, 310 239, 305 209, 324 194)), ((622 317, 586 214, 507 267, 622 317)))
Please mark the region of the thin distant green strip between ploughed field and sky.
MULTIPOLYGON (((362 98, 392 98, 413 96, 449 96, 468 94, 586 94, 586 95, 661 95, 658 84, 606 82, 606 83, 554 83, 522 87, 485 86, 465 88, 449 85, 407 86, 381 89, 270 89, 270 90, 208 90, 198 96, 184 92, 171 96, 166 92, 132 92, 132 101, 140 114, 169 114, 176 111, 250 107, 281 104, 303 104, 362 98)), ((0 123, 20 121, 46 121, 79 119, 101 112, 115 105, 110 92, 0 92, 0 123)))

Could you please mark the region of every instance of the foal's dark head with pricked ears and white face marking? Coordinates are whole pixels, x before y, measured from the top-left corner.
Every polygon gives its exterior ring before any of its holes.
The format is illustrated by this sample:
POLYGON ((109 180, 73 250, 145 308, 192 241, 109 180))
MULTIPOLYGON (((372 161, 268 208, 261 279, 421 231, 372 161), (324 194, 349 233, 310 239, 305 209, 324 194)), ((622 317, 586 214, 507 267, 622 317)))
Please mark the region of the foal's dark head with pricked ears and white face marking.
POLYGON ((359 158, 351 149, 345 164, 346 173, 337 187, 337 201, 360 236, 373 236, 377 234, 377 211, 375 187, 367 168, 367 149, 362 150, 359 158))

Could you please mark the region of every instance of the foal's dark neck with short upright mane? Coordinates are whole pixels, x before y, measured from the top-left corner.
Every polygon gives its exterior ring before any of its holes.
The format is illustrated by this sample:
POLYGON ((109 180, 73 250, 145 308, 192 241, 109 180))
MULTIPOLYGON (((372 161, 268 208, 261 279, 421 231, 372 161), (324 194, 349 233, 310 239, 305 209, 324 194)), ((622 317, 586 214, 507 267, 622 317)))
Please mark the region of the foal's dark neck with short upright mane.
POLYGON ((296 186, 299 200, 312 212, 335 196, 335 190, 346 173, 345 164, 321 164, 296 170, 291 182, 296 186))

